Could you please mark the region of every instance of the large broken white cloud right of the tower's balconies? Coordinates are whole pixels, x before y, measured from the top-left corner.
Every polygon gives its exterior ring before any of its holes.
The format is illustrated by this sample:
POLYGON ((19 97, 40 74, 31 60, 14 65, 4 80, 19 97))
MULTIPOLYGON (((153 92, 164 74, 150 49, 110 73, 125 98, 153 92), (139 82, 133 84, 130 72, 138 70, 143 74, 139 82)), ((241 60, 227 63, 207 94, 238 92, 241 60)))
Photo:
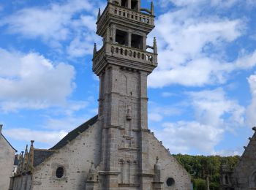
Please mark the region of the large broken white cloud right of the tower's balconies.
MULTIPOLYGON (((227 45, 246 34, 246 18, 206 14, 203 12, 206 0, 171 2, 178 9, 159 15, 156 28, 148 39, 151 42, 156 36, 159 47, 159 66, 149 75, 148 86, 223 84, 232 72, 252 69, 256 65, 256 51, 244 53, 240 50, 234 61, 228 60, 226 55, 227 45)), ((207 2, 208 7, 231 7, 238 3, 236 0, 207 2)))

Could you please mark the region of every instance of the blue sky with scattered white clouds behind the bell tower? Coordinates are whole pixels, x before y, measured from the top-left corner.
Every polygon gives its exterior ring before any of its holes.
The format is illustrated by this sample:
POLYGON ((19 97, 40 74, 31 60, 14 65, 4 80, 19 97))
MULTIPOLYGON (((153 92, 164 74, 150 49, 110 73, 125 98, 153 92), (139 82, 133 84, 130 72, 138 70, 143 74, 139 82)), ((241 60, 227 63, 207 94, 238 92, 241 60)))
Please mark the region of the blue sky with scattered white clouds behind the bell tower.
MULTIPOLYGON (((97 115, 91 70, 106 1, 0 0, 0 123, 18 151, 97 115)), ((154 0, 148 128, 170 153, 241 155, 256 125, 256 0, 154 0)), ((150 1, 142 0, 149 8, 150 1)))

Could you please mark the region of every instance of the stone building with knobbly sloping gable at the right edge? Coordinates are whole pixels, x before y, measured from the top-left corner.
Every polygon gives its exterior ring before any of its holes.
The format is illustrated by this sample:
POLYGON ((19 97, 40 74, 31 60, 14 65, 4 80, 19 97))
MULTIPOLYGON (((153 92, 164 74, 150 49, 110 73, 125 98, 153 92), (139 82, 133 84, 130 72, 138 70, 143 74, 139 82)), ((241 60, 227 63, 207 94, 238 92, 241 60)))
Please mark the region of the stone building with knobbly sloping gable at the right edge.
POLYGON ((244 146, 244 153, 234 169, 223 164, 220 180, 223 190, 255 190, 256 189, 256 127, 249 144, 244 146))

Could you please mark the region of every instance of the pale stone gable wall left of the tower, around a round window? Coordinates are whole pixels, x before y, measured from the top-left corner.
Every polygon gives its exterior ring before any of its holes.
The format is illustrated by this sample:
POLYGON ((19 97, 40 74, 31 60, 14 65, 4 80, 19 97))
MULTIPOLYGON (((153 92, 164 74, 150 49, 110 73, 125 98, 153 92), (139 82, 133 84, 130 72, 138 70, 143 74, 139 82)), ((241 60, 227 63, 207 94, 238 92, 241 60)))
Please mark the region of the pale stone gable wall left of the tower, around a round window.
POLYGON ((99 125, 95 123, 39 164, 33 173, 33 190, 86 189, 91 161, 97 165, 101 158, 101 134, 99 125), (64 177, 61 179, 56 177, 57 167, 64 167, 64 177))

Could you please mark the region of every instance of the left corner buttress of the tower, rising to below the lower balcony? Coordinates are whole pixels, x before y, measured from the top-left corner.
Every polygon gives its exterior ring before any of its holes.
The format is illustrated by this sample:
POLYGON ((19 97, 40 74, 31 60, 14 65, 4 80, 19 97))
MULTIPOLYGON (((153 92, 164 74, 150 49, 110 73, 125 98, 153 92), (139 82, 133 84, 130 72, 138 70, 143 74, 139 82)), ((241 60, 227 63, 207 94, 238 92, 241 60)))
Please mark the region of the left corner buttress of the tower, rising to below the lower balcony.
POLYGON ((118 189, 118 66, 109 66, 105 75, 104 129, 102 153, 104 160, 102 187, 106 190, 118 189), (103 145, 104 144, 104 145, 103 145))

